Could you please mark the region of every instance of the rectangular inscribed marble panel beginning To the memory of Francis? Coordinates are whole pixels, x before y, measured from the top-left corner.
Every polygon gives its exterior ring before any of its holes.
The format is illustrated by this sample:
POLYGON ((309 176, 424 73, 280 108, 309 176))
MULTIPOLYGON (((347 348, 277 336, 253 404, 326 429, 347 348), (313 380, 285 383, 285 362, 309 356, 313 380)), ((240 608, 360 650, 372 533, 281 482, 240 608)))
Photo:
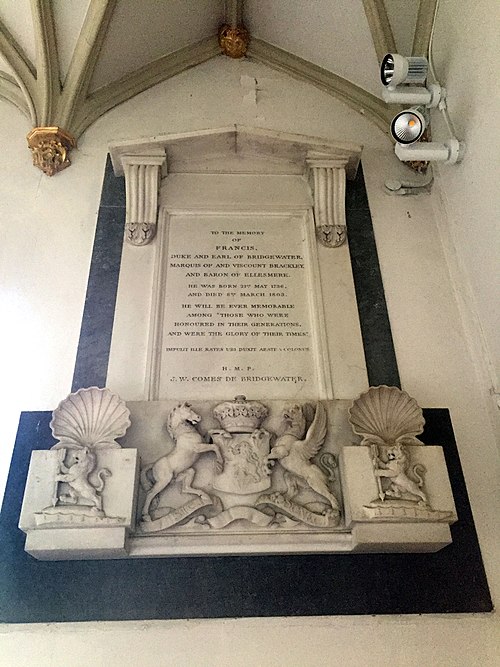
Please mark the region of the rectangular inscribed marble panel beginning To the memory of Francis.
POLYGON ((159 396, 318 396, 307 220, 172 216, 159 396))

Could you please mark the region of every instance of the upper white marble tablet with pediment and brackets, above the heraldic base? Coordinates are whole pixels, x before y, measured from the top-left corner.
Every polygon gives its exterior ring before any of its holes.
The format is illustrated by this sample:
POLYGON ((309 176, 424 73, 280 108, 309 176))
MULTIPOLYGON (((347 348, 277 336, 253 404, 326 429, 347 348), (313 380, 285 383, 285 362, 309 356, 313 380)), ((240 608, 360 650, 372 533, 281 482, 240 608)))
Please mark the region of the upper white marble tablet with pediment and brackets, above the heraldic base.
POLYGON ((130 205, 108 386, 152 401, 362 391, 358 310, 341 247, 345 170, 353 173, 359 147, 241 128, 172 141, 149 147, 150 157, 117 149, 130 205), (140 186, 129 163, 144 159, 158 171, 161 153, 156 224, 151 179, 142 218, 132 206, 140 186))

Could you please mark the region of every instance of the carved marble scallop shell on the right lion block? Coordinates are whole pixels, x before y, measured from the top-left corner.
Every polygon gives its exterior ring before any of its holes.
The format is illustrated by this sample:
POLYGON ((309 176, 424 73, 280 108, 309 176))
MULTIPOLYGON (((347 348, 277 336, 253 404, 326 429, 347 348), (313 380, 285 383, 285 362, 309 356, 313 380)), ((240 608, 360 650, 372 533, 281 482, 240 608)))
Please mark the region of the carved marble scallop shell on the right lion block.
POLYGON ((424 430, 422 409, 398 387, 370 387, 353 402, 349 422, 354 433, 362 435, 364 440, 375 436, 390 444, 409 438, 414 444, 423 444, 415 437, 424 430))

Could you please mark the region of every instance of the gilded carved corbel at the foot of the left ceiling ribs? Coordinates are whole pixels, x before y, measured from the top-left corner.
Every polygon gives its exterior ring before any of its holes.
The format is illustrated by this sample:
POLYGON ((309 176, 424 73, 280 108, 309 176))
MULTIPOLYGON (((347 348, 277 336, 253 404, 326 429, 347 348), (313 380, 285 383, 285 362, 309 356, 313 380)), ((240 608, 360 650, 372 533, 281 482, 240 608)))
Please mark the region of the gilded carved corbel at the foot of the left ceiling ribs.
POLYGON ((76 139, 60 127, 35 127, 27 135, 33 164, 47 176, 53 176, 71 164, 69 151, 76 148, 76 139))

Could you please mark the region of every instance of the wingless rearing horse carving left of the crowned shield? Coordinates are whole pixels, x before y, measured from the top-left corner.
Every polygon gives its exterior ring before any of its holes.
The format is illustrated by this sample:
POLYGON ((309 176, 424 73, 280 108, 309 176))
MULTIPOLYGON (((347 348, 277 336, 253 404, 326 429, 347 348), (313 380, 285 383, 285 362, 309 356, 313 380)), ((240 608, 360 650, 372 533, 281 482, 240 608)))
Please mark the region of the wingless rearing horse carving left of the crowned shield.
POLYGON ((200 498, 206 497, 204 491, 191 486, 195 475, 192 466, 200 454, 214 452, 218 467, 222 470, 224 461, 219 448, 217 445, 204 442, 196 428, 196 424, 200 420, 200 415, 186 402, 179 403, 170 411, 167 420, 167 431, 174 441, 175 447, 169 454, 162 456, 141 471, 141 484, 147 491, 142 508, 143 521, 151 521, 149 515, 151 502, 174 479, 181 482, 184 493, 193 493, 200 498), (152 481, 150 478, 152 478, 152 481))

